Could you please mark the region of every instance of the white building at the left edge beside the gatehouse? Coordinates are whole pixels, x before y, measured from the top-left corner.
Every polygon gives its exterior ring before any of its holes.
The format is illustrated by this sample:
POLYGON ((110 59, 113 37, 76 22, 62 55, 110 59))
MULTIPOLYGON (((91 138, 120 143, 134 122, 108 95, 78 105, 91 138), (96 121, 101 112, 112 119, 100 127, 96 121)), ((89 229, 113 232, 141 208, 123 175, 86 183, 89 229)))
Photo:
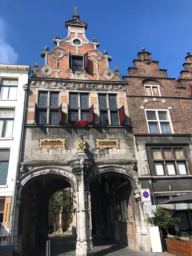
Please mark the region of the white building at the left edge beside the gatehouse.
POLYGON ((29 65, 0 64, 0 222, 12 222, 30 73, 29 65))

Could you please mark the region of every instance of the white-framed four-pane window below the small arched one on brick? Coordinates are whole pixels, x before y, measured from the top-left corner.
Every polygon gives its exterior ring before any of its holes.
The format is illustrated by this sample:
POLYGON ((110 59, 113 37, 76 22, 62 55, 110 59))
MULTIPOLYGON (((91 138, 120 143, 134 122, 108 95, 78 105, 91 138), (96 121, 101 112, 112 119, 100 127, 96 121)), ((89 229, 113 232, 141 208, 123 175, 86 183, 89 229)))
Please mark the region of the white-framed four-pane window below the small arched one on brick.
POLYGON ((169 111, 145 110, 149 133, 172 133, 169 111))

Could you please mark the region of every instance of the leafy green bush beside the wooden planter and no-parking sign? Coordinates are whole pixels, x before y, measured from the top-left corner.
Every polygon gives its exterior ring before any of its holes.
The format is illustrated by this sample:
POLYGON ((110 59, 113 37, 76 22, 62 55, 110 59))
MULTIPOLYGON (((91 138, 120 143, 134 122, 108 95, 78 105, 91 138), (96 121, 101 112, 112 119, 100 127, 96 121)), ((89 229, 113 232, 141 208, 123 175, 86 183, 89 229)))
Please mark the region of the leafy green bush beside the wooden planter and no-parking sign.
POLYGON ((153 214, 154 217, 152 218, 147 214, 145 221, 153 226, 158 226, 159 228, 163 227, 168 234, 168 229, 177 225, 180 221, 180 218, 175 217, 173 212, 164 207, 157 206, 157 209, 156 211, 153 211, 153 214))

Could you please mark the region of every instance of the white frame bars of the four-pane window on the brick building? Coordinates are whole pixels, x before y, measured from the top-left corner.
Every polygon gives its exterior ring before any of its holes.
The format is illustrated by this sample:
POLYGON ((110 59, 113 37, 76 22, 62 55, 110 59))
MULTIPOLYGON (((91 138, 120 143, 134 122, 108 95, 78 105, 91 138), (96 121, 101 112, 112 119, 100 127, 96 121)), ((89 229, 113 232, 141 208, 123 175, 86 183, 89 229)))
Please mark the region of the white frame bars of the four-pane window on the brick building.
POLYGON ((149 129, 149 125, 148 123, 150 122, 154 122, 154 123, 157 123, 157 128, 159 130, 159 132, 157 133, 154 133, 154 134, 174 134, 174 131, 173 131, 173 125, 172 125, 172 121, 171 121, 171 116, 170 116, 170 113, 169 113, 169 110, 168 109, 145 109, 145 118, 146 118, 146 121, 147 121, 147 128, 148 128, 148 133, 150 133, 150 129, 149 129), (156 120, 148 120, 147 119, 147 111, 154 111, 155 114, 156 114, 156 117, 157 119, 156 120), (159 119, 159 115, 158 115, 158 111, 161 111, 161 112, 167 112, 167 116, 168 116, 168 119, 169 120, 160 120, 159 119), (169 129, 170 129, 170 133, 162 133, 162 130, 161 130, 161 126, 160 126, 160 123, 163 122, 163 123, 169 123, 169 129))

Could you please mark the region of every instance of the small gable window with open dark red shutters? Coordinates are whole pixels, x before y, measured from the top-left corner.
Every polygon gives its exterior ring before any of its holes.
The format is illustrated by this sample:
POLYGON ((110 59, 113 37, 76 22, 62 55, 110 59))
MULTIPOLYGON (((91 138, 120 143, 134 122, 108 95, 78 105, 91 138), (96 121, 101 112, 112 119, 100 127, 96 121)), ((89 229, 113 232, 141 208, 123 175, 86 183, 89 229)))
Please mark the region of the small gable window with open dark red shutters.
POLYGON ((84 55, 74 55, 69 51, 69 67, 71 70, 84 71, 88 69, 88 52, 84 55))

